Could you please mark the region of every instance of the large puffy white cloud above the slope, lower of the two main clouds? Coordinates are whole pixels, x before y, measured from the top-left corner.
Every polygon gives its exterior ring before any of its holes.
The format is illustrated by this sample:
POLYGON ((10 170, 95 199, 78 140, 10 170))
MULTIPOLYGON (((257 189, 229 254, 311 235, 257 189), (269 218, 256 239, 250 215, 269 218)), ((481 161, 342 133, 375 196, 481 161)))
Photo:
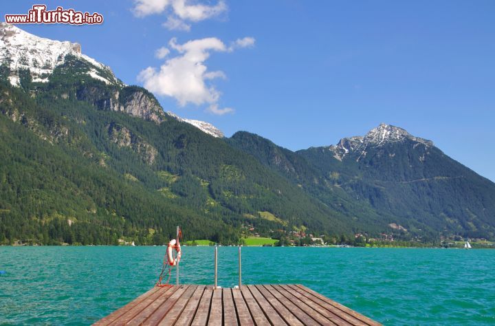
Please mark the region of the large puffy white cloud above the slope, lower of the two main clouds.
MULTIPOLYGON (((246 45, 252 46, 252 41, 243 41, 246 45)), ((240 41, 240 40, 237 40, 240 41)), ((237 43, 235 41, 234 43, 237 43)), ((161 96, 175 98, 181 107, 189 103, 195 105, 208 105, 207 111, 213 114, 222 115, 234 111, 230 107, 219 108, 218 102, 221 96, 220 91, 212 85, 212 80, 217 78, 225 79, 223 72, 208 71, 206 60, 212 52, 232 52, 232 45, 227 47, 225 43, 215 37, 188 41, 184 44, 177 43, 177 39, 171 39, 168 47, 177 52, 177 56, 168 58, 159 67, 147 67, 137 76, 137 80, 143 83, 146 89, 161 96)), ((164 54, 162 58, 169 54, 167 47, 161 47, 156 54, 164 54)))

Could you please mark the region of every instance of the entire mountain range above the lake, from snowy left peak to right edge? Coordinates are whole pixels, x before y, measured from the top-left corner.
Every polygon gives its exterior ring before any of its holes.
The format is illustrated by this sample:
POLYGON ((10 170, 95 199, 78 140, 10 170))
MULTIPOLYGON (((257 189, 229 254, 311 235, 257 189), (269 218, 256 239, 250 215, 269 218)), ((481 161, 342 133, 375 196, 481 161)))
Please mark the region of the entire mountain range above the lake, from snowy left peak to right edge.
POLYGON ((289 151, 165 113, 76 43, 0 24, 0 243, 495 235, 495 184, 404 129, 289 151))

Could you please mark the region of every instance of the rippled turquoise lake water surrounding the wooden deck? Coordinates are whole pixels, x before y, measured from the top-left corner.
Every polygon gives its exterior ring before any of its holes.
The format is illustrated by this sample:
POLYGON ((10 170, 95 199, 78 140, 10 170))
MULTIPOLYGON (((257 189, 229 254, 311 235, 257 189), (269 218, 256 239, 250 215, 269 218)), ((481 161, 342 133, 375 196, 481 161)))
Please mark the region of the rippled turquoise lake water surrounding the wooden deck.
MULTIPOLYGON (((181 283, 212 284, 214 248, 181 283)), ((0 247, 0 324, 88 325, 153 286, 164 247, 0 247)), ((495 250, 242 248, 243 283, 301 283, 385 325, 495 325, 495 250)), ((219 285, 237 284, 219 248, 219 285)), ((173 277, 173 281, 175 278, 173 277)))

